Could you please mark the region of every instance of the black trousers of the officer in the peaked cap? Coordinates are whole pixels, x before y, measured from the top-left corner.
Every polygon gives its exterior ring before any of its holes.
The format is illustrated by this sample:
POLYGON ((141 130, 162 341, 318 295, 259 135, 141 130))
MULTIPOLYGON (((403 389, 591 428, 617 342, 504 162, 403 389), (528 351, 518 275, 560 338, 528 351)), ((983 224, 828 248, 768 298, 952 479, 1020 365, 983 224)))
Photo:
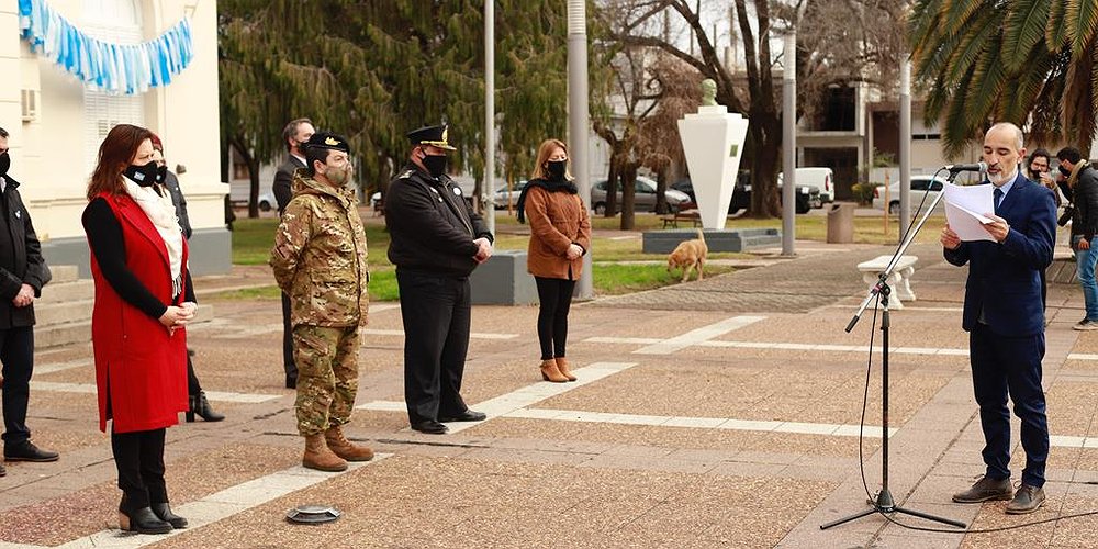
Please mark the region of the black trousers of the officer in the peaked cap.
POLYGON ((468 410, 469 279, 396 269, 404 321, 404 402, 413 424, 468 410))

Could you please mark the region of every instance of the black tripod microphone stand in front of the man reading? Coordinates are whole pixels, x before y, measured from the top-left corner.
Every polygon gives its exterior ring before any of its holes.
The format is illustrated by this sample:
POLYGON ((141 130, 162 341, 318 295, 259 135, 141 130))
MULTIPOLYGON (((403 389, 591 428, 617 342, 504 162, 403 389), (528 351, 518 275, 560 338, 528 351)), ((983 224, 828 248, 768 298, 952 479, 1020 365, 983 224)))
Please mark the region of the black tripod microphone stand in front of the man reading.
MULTIPOLYGON (((949 182, 952 183, 953 178, 955 178, 957 172, 955 171, 950 172, 949 182)), ((873 300, 876 299, 878 295, 881 296, 881 309, 882 309, 881 491, 877 492, 876 501, 870 502, 871 505, 870 508, 862 511, 860 513, 855 513, 848 517, 840 518, 838 520, 832 520, 827 524, 821 524, 820 525, 821 530, 826 530, 828 528, 831 528, 832 526, 839 526, 840 524, 845 524, 851 520, 855 520, 864 516, 872 515, 874 513, 881 513, 881 514, 903 513, 905 515, 911 515, 919 518, 926 518, 928 520, 934 520, 938 523, 948 524, 950 526, 956 526, 957 528, 967 527, 966 524, 960 520, 953 520, 951 518, 944 518, 922 513, 919 511, 912 511, 900 507, 896 505, 896 501, 893 498, 892 492, 888 490, 888 328, 890 327, 890 322, 888 318, 888 295, 892 293, 892 288, 888 285, 888 277, 892 276, 893 271, 896 269, 896 264, 899 262, 900 257, 903 257, 904 253, 907 251, 908 246, 910 246, 911 242, 915 240, 916 235, 919 234, 919 231, 922 228, 922 225, 927 223, 927 220, 930 217, 930 214, 934 211, 934 208, 938 206, 938 203, 941 202, 942 197, 944 195, 945 195, 945 189, 943 188, 942 192, 938 193, 938 195, 934 197, 934 200, 930 203, 930 208, 928 208, 927 211, 922 214, 922 219, 919 220, 919 222, 908 231, 907 235, 905 235, 904 240, 900 243, 899 247, 896 248, 896 253, 893 255, 892 260, 888 261, 888 266, 885 267, 885 270, 881 272, 881 277, 878 277, 877 283, 870 289, 869 295, 866 295, 865 300, 862 301, 862 306, 858 309, 858 312, 854 313, 853 318, 851 318, 850 323, 847 324, 847 333, 850 333, 851 329, 854 329, 854 325, 858 324, 858 321, 861 320, 862 313, 865 312, 865 307, 867 307, 870 303, 873 302, 873 300)))

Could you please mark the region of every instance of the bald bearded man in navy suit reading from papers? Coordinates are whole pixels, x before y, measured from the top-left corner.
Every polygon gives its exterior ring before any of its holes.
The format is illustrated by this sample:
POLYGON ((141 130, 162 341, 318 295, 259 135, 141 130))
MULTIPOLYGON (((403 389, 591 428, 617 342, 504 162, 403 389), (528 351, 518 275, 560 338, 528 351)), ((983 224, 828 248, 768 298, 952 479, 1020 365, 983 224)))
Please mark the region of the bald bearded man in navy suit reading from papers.
POLYGON ((1041 271, 1052 262, 1056 202, 1052 191, 1022 175, 1022 132, 999 123, 984 135, 984 161, 993 186, 995 212, 985 229, 994 242, 962 242, 949 225, 942 229, 945 260, 968 264, 962 327, 968 332, 973 392, 984 429, 984 477, 954 494, 957 503, 1010 500, 1007 513, 1037 511, 1044 503, 1049 424, 1041 360, 1044 358, 1044 306, 1041 271), (1010 484, 1010 411, 1021 419, 1026 450, 1022 484, 1010 484))

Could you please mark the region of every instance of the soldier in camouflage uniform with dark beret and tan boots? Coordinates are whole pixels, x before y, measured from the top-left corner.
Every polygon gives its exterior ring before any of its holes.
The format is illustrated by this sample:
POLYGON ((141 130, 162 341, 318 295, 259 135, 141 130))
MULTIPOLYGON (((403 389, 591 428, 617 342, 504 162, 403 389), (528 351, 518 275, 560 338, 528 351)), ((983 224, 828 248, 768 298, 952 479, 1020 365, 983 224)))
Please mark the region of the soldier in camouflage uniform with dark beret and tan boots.
POLYGON ((366 233, 352 189, 347 142, 316 133, 307 167, 294 173, 293 199, 274 235, 270 265, 290 296, 298 363, 298 432, 302 464, 343 471, 373 452, 344 436, 358 392, 358 327, 366 325, 369 272, 366 233))

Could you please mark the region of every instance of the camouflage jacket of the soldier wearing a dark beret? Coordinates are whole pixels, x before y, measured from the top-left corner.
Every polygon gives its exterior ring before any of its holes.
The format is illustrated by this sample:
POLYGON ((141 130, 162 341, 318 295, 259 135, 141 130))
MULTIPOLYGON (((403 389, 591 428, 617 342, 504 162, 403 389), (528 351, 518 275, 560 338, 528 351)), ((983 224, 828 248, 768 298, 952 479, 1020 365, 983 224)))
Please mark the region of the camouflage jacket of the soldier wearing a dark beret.
POLYGON ((358 200, 300 169, 274 233, 270 266, 290 296, 293 326, 365 326, 370 296, 358 200))

